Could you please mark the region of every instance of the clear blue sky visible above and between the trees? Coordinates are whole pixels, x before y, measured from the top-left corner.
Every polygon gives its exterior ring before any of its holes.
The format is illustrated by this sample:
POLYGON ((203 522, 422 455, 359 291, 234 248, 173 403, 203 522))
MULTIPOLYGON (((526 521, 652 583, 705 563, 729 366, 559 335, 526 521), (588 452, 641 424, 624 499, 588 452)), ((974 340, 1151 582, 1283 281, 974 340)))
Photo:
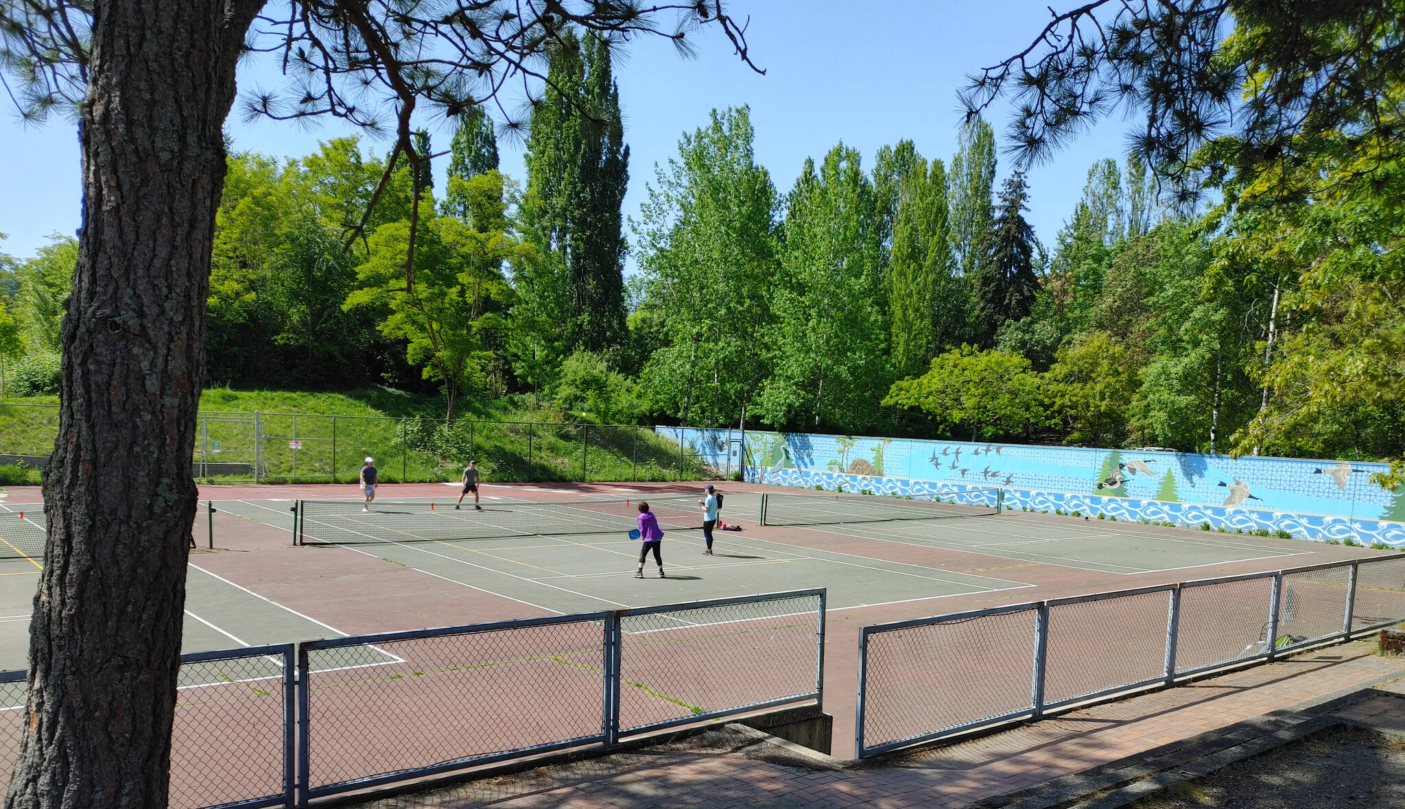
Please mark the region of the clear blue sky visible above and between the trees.
MULTIPOLYGON (((764 76, 740 63, 711 29, 698 37, 697 59, 680 58, 662 39, 641 39, 617 60, 631 149, 627 216, 638 218, 653 164, 676 154, 679 135, 705 124, 712 108, 750 105, 757 160, 781 192, 805 157, 819 157, 840 140, 863 153, 865 167, 880 146, 902 138, 924 157, 950 163, 961 122, 955 93, 965 73, 1023 49, 1048 17, 1044 3, 1027 0, 732 0, 731 10, 750 14, 747 39, 764 76)), ((267 65, 244 63, 240 88, 267 72, 267 65)), ((1003 129, 1003 110, 992 124, 998 133, 1003 129)), ((236 149, 282 156, 306 154, 318 140, 351 133, 334 121, 312 129, 274 121, 249 125, 237 110, 228 131, 236 149)), ((1026 216, 1047 246, 1082 194, 1089 166, 1102 157, 1121 160, 1125 131, 1124 121, 1103 122, 1028 173, 1026 216)), ((433 131, 436 150, 447 149, 451 135, 448 128, 433 131)), ((384 152, 386 145, 371 149, 384 152)), ((499 149, 503 170, 523 180, 521 146, 504 142, 499 149)), ((72 235, 80 192, 76 129, 58 119, 25 128, 4 115, 0 154, 0 233, 8 235, 0 251, 25 257, 51 233, 72 235)), ((438 160, 436 170, 443 174, 445 164, 438 160)), ((1000 178, 1010 169, 1002 153, 1000 178)))

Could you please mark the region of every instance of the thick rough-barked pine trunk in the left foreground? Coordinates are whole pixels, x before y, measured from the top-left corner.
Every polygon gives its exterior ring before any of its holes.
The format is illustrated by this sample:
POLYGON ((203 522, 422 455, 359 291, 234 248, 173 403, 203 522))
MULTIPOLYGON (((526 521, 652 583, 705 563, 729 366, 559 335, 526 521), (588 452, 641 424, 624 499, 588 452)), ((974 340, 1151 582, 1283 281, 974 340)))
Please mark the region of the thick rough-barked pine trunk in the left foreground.
POLYGON ((166 805, 222 125, 260 4, 94 4, 83 233, 11 809, 166 805))

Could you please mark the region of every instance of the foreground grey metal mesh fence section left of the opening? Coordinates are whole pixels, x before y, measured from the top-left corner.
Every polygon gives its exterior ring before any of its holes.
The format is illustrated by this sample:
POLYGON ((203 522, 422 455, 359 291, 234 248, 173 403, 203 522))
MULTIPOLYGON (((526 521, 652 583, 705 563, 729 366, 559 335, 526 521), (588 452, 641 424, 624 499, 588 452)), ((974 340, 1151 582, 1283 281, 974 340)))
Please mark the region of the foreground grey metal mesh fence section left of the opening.
MULTIPOLYGON (((825 591, 181 656, 170 806, 256 809, 819 702, 825 591)), ((25 673, 0 671, 0 784, 25 673)))

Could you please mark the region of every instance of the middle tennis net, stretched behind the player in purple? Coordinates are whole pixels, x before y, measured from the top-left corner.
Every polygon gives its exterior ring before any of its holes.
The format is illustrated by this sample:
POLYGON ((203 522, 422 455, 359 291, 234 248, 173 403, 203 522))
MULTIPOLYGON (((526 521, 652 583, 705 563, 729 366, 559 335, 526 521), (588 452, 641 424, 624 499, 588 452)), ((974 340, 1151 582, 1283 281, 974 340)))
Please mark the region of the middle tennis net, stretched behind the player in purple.
POLYGON ((701 528, 701 497, 662 496, 632 499, 518 501, 485 500, 475 510, 471 500, 454 501, 299 500, 299 545, 357 545, 367 542, 452 542, 548 534, 624 534, 636 527, 639 501, 665 530, 701 528), (362 508, 365 508, 362 511, 362 508))

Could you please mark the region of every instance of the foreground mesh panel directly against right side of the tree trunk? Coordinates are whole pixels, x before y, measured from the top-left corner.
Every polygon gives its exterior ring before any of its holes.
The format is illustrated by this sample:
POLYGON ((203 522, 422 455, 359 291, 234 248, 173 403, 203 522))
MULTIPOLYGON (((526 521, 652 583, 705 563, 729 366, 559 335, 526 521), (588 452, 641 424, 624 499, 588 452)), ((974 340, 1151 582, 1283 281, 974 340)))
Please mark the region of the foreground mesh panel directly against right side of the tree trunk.
POLYGON ((292 667, 291 645, 181 657, 170 806, 291 799, 292 667))

